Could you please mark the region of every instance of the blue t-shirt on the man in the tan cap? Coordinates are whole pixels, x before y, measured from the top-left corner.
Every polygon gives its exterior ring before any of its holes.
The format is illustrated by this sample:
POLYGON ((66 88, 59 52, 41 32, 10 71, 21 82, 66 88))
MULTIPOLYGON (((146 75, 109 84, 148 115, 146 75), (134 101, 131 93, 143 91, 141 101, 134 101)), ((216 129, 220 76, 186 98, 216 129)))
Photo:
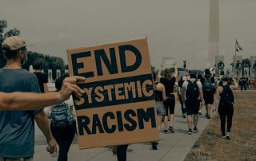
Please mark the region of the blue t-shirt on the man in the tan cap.
MULTIPOLYGON (((37 77, 24 69, 0 69, 0 92, 40 92, 37 77)), ((34 155, 34 111, 0 111, 0 157, 34 155)))

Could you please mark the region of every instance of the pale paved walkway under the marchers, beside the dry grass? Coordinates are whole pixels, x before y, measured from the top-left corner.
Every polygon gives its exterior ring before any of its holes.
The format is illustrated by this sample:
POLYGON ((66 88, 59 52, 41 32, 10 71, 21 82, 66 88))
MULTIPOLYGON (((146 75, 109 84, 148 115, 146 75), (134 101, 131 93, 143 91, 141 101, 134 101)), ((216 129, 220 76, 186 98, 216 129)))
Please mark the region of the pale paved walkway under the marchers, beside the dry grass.
MULTIPOLYGON (((176 133, 164 134, 161 133, 161 140, 158 142, 158 150, 151 149, 150 143, 136 143, 132 147, 134 151, 127 152, 127 160, 184 160, 186 154, 190 151, 190 148, 194 145, 198 136, 201 135, 206 125, 210 120, 207 120, 204 116, 206 114, 205 109, 202 110, 202 116, 199 116, 198 120, 198 133, 188 135, 188 127, 186 119, 181 116, 181 106, 179 102, 176 102, 175 106, 175 119, 174 129, 176 133)), ((163 124, 162 124, 163 128, 163 124)), ((35 145, 35 161, 49 161, 57 160, 46 152, 46 140, 44 139, 42 132, 38 132, 36 128, 36 145, 35 145)), ((112 151, 108 147, 92 148, 87 150, 79 150, 78 144, 74 139, 74 143, 70 147, 69 160, 70 161, 99 161, 99 160, 117 160, 116 155, 113 155, 112 151)))

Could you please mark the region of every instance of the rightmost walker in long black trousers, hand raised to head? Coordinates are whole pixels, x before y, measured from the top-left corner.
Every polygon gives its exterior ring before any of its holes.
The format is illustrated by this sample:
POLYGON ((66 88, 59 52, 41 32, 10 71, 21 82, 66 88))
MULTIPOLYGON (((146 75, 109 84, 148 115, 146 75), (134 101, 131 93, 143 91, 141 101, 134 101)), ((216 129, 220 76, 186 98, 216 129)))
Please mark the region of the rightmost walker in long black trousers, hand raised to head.
POLYGON ((230 81, 230 77, 222 77, 222 84, 217 88, 215 96, 215 108, 213 110, 215 112, 218 108, 218 114, 221 119, 223 139, 230 139, 230 130, 232 127, 232 117, 234 113, 234 95, 232 90, 238 88, 238 83, 234 80, 234 78, 232 78, 232 82, 234 82, 234 84, 229 84, 228 81, 230 81), (226 121, 227 129, 225 128, 226 121))

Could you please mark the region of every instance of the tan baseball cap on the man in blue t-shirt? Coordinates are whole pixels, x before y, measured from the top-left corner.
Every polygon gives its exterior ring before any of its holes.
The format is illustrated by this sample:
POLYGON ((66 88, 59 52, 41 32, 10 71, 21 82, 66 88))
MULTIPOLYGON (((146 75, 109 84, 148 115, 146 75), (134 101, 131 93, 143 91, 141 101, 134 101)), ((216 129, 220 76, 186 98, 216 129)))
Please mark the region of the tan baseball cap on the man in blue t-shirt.
POLYGON ((22 39, 22 37, 18 36, 7 37, 2 42, 2 49, 17 50, 21 49, 24 46, 27 46, 26 42, 22 39))

